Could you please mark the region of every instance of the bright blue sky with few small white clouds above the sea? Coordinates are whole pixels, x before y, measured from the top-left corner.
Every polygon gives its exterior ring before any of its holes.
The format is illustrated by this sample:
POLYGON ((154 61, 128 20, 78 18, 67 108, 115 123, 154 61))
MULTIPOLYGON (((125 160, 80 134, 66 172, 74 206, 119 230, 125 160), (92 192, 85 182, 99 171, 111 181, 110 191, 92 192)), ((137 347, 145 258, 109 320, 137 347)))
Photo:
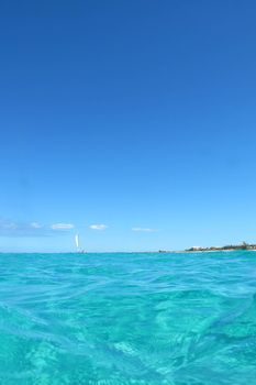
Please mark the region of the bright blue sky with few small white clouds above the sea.
POLYGON ((1 1, 0 251, 256 242, 255 16, 1 1))

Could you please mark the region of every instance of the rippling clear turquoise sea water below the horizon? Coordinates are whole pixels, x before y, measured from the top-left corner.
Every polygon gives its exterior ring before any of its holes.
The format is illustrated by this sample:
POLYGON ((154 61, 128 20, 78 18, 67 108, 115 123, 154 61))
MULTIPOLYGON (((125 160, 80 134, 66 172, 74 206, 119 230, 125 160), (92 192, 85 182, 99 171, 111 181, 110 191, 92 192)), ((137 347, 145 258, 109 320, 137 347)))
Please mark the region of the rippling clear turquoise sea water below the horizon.
POLYGON ((0 384, 256 384, 256 253, 0 254, 0 384))

